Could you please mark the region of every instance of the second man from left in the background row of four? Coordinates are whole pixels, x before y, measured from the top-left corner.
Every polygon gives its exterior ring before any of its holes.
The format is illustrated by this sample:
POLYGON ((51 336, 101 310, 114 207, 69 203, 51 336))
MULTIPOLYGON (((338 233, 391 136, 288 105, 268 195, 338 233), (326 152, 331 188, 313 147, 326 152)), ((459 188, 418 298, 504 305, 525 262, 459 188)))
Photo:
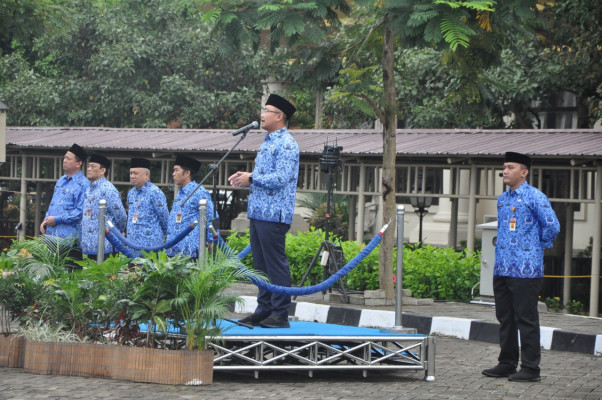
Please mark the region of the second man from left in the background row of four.
MULTIPOLYGON (((115 186, 106 178, 111 167, 108 158, 100 154, 90 155, 88 160, 87 176, 90 186, 86 190, 84 200, 84 216, 82 218, 81 247, 82 253, 88 256, 98 255, 98 216, 100 200, 107 202, 106 220, 111 221, 120 232, 125 230, 125 208, 121 202, 121 195, 115 186)), ((104 235, 104 232, 100 232, 104 235)), ((113 253, 113 245, 105 240, 103 254, 113 253)))

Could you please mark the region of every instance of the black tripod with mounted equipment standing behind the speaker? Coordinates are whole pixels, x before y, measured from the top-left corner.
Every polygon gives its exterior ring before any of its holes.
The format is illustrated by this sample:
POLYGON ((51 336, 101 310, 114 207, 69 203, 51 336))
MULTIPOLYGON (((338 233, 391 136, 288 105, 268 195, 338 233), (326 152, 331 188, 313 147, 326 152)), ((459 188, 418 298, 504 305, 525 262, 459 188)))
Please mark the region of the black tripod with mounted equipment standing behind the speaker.
MULTIPOLYGON (((340 149, 341 148, 337 148, 339 154, 340 154, 340 149)), ((327 153, 327 149, 325 148, 324 154, 326 154, 326 153, 327 153)), ((328 163, 328 160, 330 158, 327 156, 322 157, 322 158, 320 158, 320 163, 323 164, 325 162, 324 161, 325 159, 326 159, 326 162, 328 163)), ((320 257, 320 265, 322 265, 322 268, 323 268, 323 275, 322 275, 323 280, 325 280, 329 276, 335 274, 343 266, 343 262, 344 262, 343 249, 340 246, 336 246, 334 243, 332 243, 329 240, 330 239, 330 202, 331 202, 333 191, 334 191, 334 176, 333 175, 339 166, 340 166, 340 159, 338 159, 338 161, 335 161, 335 163, 332 163, 332 165, 331 165, 331 163, 328 163, 325 165, 325 167, 327 167, 326 169, 328 172, 328 192, 326 195, 326 214, 325 214, 326 222, 324 225, 324 241, 322 241, 322 243, 320 243, 320 247, 319 247, 318 251, 312 258, 311 262, 309 263, 309 267, 307 267, 307 270, 305 271, 305 274, 303 275, 303 278, 301 279, 301 283, 299 284, 300 287, 303 286, 303 284, 307 280, 309 273, 311 272, 311 270, 316 265, 316 262, 318 261, 318 257, 320 257)), ((347 295, 347 289, 345 288, 343 279, 339 279, 339 285, 340 285, 339 291, 341 293, 343 293, 343 298, 345 299, 345 302, 349 303, 349 296, 347 295)), ((332 288, 329 288, 328 291, 332 292, 332 288)), ((326 294, 326 290, 323 290, 322 294, 326 294)), ((293 299, 296 299, 296 298, 297 298, 297 296, 295 296, 293 299)))

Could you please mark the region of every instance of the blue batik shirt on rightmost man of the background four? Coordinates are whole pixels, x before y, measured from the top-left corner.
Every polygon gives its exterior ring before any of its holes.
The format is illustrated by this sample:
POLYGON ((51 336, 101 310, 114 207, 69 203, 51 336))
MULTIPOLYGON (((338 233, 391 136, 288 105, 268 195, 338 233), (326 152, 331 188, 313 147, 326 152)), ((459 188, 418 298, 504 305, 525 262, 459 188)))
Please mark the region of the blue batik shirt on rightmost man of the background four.
MULTIPOLYGON (((213 234, 209 229, 209 225, 212 225, 213 221, 213 202, 211 201, 211 195, 204 187, 200 187, 190 199, 181 206, 182 201, 188 197, 190 192, 197 186, 195 181, 190 182, 183 188, 178 190, 171 212, 169 213, 169 223, 167 224, 167 240, 170 241, 174 237, 178 236, 180 232, 185 230, 194 221, 200 221, 199 218, 199 201, 202 199, 207 200, 207 243, 213 242, 213 234)), ((182 254, 189 257, 198 257, 199 252, 199 226, 195 226, 192 232, 186 235, 181 241, 176 243, 174 246, 167 249, 167 255, 170 257, 176 254, 182 254)))

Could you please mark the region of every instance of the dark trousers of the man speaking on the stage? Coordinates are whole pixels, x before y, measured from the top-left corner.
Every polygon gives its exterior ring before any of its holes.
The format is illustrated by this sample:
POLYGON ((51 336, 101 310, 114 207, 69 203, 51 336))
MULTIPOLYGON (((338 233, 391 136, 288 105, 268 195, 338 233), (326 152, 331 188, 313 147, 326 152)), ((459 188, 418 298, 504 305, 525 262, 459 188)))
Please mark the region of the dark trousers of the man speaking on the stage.
MULTIPOLYGON (((286 257, 286 232, 290 225, 278 222, 250 220, 250 239, 256 270, 270 278, 278 286, 291 286, 291 272, 286 257)), ((259 289, 256 314, 274 314, 288 317, 291 296, 259 289)))

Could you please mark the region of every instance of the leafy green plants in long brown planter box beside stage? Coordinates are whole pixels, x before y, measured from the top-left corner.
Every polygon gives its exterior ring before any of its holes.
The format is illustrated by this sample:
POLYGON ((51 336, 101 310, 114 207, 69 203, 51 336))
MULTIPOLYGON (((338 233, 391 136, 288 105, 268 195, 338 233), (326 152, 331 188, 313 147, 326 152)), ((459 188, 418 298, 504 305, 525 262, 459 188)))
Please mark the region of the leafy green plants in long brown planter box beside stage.
POLYGON ((209 343, 220 340, 217 321, 239 301, 225 290, 253 275, 221 253, 203 265, 165 252, 112 256, 100 265, 84 258, 81 270, 69 271, 58 240, 13 247, 11 271, 34 289, 15 308, 23 314, 23 365, 38 374, 210 384, 209 343), (186 332, 185 342, 174 339, 170 326, 186 332))

